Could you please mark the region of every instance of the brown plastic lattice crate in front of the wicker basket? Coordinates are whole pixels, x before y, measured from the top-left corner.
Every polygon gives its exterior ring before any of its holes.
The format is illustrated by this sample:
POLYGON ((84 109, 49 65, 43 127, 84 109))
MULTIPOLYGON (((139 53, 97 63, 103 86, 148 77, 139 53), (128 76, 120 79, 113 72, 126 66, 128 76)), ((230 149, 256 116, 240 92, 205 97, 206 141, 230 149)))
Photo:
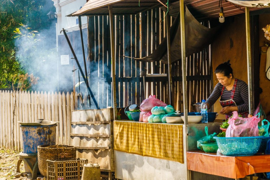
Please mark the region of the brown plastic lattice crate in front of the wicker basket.
POLYGON ((87 159, 47 160, 48 180, 80 180, 87 159))

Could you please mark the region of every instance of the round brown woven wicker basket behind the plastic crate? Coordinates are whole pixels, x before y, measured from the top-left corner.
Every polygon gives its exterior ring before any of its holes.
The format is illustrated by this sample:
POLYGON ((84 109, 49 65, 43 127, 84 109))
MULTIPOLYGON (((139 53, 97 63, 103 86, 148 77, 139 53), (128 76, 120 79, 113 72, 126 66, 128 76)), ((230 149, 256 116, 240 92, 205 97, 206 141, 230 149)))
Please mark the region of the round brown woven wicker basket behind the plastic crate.
POLYGON ((38 146, 38 168, 40 174, 47 176, 47 161, 54 159, 76 159, 76 146, 42 145, 38 146))

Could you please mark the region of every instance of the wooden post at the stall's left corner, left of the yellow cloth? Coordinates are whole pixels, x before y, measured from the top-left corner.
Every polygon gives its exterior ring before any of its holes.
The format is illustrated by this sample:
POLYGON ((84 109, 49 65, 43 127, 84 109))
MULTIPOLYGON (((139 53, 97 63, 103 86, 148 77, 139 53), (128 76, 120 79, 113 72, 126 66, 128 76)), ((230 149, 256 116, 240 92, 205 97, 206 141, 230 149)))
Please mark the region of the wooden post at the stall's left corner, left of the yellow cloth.
POLYGON ((109 6, 109 18, 110 18, 110 34, 111 34, 111 57, 112 57, 112 81, 113 81, 113 114, 114 119, 117 116, 117 104, 116 104, 116 83, 115 83, 115 56, 114 56, 114 34, 113 34, 113 9, 109 6))

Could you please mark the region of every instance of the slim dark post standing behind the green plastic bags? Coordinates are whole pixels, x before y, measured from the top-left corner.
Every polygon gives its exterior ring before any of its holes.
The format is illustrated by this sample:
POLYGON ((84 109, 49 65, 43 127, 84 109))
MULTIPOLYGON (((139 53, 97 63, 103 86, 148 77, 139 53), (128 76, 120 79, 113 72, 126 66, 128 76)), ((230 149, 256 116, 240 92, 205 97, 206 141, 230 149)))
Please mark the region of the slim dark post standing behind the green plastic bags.
POLYGON ((170 40, 170 21, 169 21, 169 14, 166 16, 166 34, 167 34, 167 51, 168 51, 168 82, 169 82, 169 104, 174 106, 173 100, 172 100, 172 79, 171 79, 171 40, 170 40))

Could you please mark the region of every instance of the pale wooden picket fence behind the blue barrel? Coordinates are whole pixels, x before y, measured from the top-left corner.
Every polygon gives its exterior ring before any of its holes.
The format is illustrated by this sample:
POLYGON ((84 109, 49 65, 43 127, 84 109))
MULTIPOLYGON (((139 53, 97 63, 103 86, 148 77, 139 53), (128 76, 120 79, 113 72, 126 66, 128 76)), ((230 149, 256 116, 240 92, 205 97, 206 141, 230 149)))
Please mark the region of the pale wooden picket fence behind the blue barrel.
POLYGON ((69 144, 71 112, 77 107, 77 93, 0 91, 0 146, 22 149, 20 124, 38 119, 59 121, 56 144, 69 144), (14 114, 14 121, 13 121, 14 114))

